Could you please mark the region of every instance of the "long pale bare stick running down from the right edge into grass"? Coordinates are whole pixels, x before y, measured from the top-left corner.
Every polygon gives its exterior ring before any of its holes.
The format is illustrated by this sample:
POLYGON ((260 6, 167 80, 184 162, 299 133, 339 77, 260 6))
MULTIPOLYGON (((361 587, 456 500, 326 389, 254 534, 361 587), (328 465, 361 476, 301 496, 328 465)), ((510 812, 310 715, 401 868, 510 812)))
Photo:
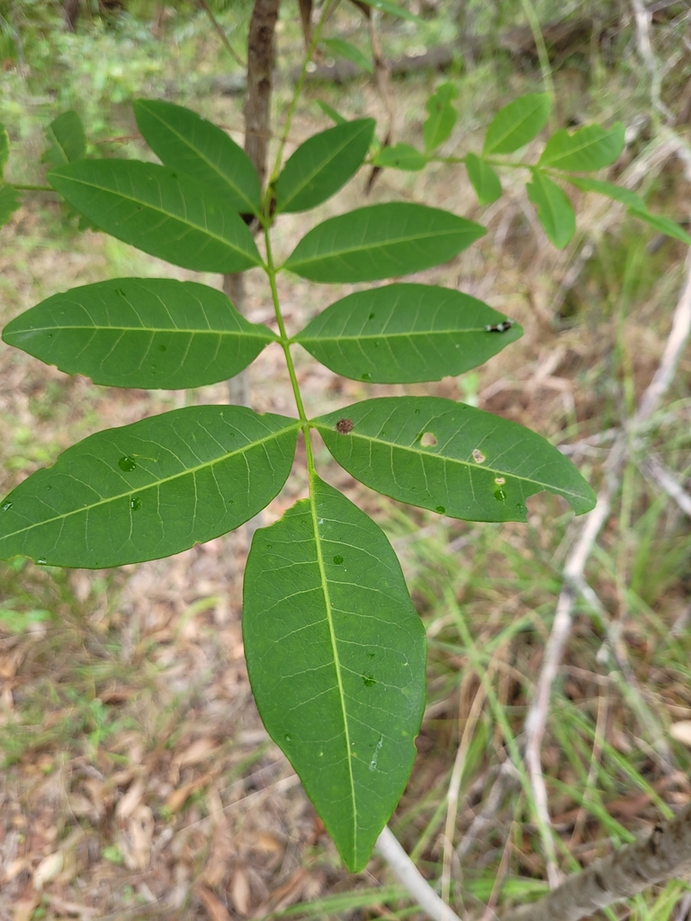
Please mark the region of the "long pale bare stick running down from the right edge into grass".
MULTIPOLYGON (((533 786, 535 803, 542 820, 541 825, 546 822, 545 827, 549 827, 550 820, 540 750, 545 735, 552 684, 555 681, 556 672, 571 631, 574 591, 577 586, 582 587, 585 585, 583 575, 585 565, 591 555, 592 547, 597 540, 598 534, 609 518, 612 498, 615 495, 619 475, 627 459, 629 439, 636 437, 640 426, 650 418, 662 402, 664 394, 672 383, 674 372, 688 341, 689 332, 691 332, 691 256, 686 260, 685 285, 674 310, 672 329, 667 338, 660 365, 638 403, 636 414, 634 414, 624 431, 616 438, 612 453, 607 461, 607 472, 603 488, 600 490, 595 507, 589 513, 580 533, 580 538, 576 542, 572 553, 568 554, 568 560, 564 566, 565 584, 559 593, 555 620, 545 647, 543 668, 538 678, 533 702, 525 720, 525 760, 533 786)), ((545 846, 545 835, 543 835, 543 845, 545 846)), ((554 844, 550 838, 548 845, 545 847, 545 855, 548 880, 550 885, 554 887, 553 880, 556 876, 556 864, 553 865, 554 869, 549 875, 549 863, 553 854, 554 844)))

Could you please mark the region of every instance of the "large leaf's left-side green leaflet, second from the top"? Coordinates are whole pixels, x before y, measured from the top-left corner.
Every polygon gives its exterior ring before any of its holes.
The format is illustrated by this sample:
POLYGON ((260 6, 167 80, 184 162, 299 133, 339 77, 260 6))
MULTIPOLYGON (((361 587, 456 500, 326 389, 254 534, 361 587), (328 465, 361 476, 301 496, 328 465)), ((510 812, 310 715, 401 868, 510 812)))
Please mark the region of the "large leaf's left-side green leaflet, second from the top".
POLYGON ((112 237, 196 272, 261 265, 232 199, 191 176, 139 160, 80 160, 48 173, 53 188, 112 237))

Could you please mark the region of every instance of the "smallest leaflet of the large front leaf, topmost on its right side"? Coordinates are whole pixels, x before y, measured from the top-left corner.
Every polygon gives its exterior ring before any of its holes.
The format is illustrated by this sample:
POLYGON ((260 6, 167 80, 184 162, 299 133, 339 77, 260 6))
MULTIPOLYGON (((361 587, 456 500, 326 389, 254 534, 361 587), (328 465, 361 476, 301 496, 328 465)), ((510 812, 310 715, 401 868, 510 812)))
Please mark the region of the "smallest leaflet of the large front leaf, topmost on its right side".
POLYGON ((276 212, 308 211, 338 192, 364 160, 374 126, 371 118, 345 122, 301 144, 276 181, 276 212))

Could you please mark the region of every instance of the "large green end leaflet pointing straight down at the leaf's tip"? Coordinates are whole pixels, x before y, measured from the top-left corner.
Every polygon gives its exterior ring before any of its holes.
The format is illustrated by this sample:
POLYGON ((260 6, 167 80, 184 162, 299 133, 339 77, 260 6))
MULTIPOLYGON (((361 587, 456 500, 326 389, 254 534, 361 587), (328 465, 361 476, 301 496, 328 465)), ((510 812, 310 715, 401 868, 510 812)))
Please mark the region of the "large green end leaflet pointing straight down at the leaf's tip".
POLYGON ((242 636, 264 726, 357 872, 415 759, 425 631, 386 536, 316 475, 254 534, 242 636))

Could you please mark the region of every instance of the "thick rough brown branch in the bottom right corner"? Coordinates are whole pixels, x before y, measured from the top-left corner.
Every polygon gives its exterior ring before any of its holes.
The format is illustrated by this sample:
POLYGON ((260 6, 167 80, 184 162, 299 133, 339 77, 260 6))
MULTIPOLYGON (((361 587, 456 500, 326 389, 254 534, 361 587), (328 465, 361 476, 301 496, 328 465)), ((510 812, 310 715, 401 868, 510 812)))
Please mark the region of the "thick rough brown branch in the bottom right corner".
POLYGON ((502 921, 580 921, 598 909, 667 880, 691 873, 691 803, 649 837, 595 860, 539 902, 522 905, 502 921))

